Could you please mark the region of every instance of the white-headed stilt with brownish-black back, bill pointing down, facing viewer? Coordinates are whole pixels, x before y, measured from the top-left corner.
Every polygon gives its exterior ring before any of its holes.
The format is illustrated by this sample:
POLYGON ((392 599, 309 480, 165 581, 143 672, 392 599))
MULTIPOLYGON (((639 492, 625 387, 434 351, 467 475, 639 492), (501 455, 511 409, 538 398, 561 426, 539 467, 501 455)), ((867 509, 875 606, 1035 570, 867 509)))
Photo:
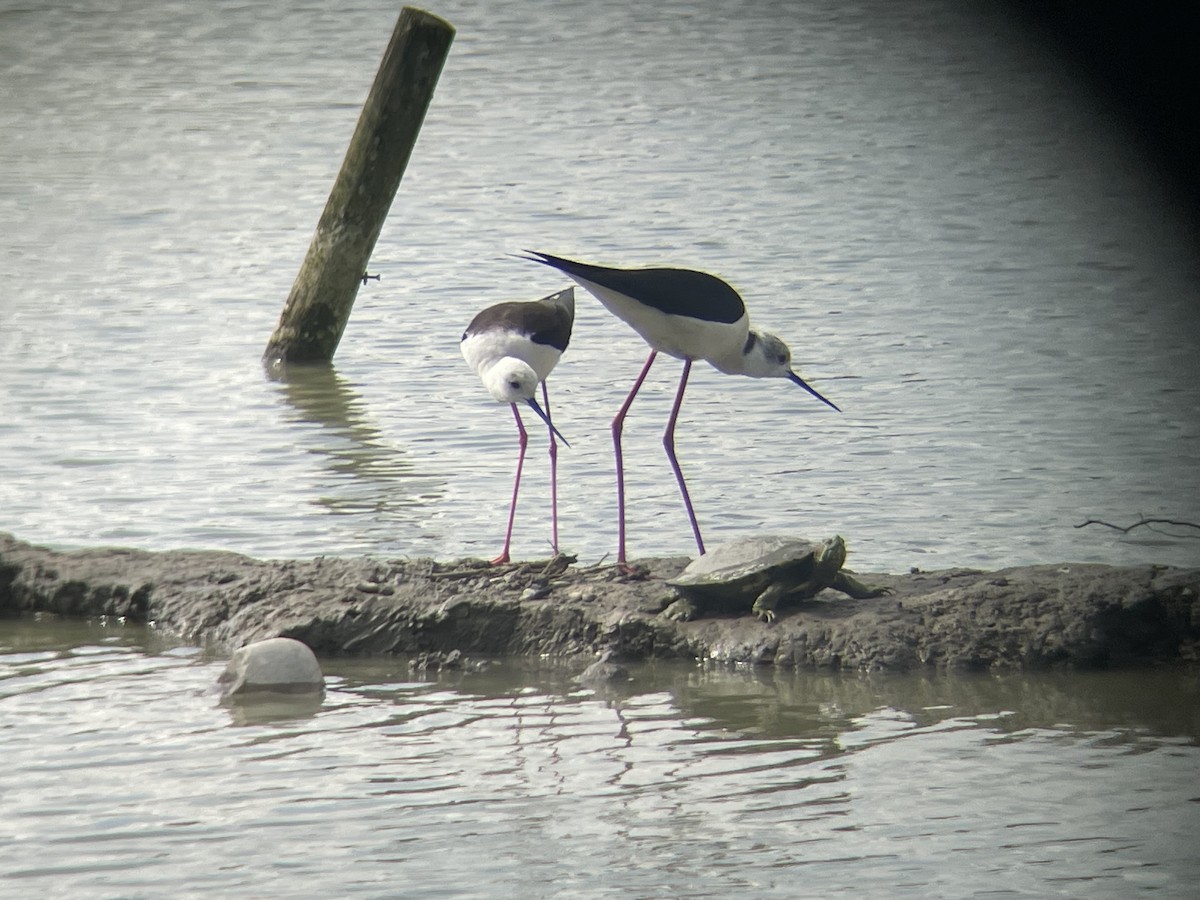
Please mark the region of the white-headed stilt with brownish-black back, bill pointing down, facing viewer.
POLYGON ((512 407, 517 432, 521 436, 517 474, 512 482, 512 503, 509 506, 509 528, 504 535, 504 550, 492 560, 492 565, 509 562, 512 521, 517 511, 517 492, 521 490, 521 467, 529 440, 517 409, 518 401, 528 403, 550 428, 550 510, 553 523, 553 548, 554 553, 558 553, 558 444, 554 436, 557 434, 568 446, 570 444, 550 420, 546 377, 570 343, 574 322, 575 288, 566 288, 541 300, 488 306, 472 319, 467 330, 462 332, 460 346, 463 359, 475 370, 488 394, 498 403, 512 407), (538 406, 534 398, 539 383, 545 409, 538 406))

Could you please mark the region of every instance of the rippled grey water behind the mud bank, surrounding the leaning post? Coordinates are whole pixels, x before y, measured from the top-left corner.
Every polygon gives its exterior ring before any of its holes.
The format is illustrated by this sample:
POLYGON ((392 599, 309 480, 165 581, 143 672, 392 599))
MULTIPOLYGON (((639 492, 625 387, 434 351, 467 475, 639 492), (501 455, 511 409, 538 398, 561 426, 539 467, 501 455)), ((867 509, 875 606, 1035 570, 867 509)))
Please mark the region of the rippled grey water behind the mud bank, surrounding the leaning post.
MULTIPOLYGON (((701 523, 860 569, 1194 564, 1073 526, 1200 521, 1196 260, 1136 144, 996 7, 450 1, 458 29, 336 371, 259 355, 391 4, 0 4, 0 528, 54 545, 491 554, 516 456, 458 355, 563 286, 523 247, 720 272, 838 415, 696 370, 701 523)), ((644 358, 581 293, 552 401, 564 547, 614 545, 608 421, 644 358)), ((692 550, 626 424, 631 553, 692 550)), ((545 553, 535 433, 516 552, 545 553)), ((1187 530, 1176 530, 1187 535, 1187 530)))

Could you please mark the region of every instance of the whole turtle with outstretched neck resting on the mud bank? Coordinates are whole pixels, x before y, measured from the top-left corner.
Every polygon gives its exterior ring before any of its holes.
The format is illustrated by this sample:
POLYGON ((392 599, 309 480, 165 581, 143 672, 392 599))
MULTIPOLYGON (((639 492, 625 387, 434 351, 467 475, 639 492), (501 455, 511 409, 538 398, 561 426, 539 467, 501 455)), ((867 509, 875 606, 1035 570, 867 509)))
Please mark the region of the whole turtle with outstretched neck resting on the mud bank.
POLYGON ((694 559, 667 584, 682 596, 662 616, 688 622, 706 610, 750 611, 773 622, 780 600, 805 600, 824 588, 856 600, 882 596, 888 588, 869 588, 841 570, 846 541, 834 535, 826 541, 803 538, 743 538, 694 559))

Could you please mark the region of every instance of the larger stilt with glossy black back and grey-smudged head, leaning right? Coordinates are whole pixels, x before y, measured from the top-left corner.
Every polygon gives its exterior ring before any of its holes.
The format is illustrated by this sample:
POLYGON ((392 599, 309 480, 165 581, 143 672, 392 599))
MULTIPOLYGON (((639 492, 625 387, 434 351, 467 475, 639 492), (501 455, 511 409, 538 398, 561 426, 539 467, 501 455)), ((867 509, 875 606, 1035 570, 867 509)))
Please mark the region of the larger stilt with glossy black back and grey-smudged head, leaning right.
POLYGON ((660 352, 683 360, 683 374, 662 434, 662 446, 679 484, 691 530, 696 535, 696 546, 703 556, 704 540, 700 535, 696 512, 674 452, 676 420, 679 418, 692 360, 702 359, 726 374, 787 378, 822 403, 834 409, 838 407, 792 371, 792 353, 786 343, 775 335, 750 328, 750 317, 738 292, 715 275, 691 269, 611 269, 550 253, 526 253, 528 256, 524 259, 558 269, 587 288, 650 346, 650 355, 642 366, 641 374, 612 420, 612 443, 617 456, 617 565, 622 569, 629 568, 625 560, 625 474, 620 456, 620 432, 625 414, 660 352))

